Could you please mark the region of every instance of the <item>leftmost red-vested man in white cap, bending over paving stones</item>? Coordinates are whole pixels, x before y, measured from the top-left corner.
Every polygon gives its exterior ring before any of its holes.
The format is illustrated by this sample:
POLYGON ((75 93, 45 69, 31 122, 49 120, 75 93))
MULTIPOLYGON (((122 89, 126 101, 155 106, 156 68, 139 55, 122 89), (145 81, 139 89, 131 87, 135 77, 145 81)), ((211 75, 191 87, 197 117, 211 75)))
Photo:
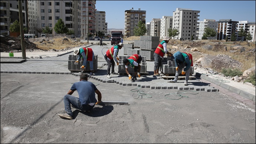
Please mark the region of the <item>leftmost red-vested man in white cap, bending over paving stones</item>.
POLYGON ((79 48, 74 51, 74 55, 78 55, 77 61, 75 61, 75 63, 76 62, 78 63, 78 61, 80 61, 81 58, 83 60, 83 65, 81 66, 83 71, 79 72, 79 73, 85 73, 85 68, 86 68, 87 62, 89 61, 90 62, 90 70, 91 70, 91 73, 89 75, 92 75, 92 73, 93 73, 93 58, 94 58, 94 52, 92 51, 92 49, 91 48, 79 48))

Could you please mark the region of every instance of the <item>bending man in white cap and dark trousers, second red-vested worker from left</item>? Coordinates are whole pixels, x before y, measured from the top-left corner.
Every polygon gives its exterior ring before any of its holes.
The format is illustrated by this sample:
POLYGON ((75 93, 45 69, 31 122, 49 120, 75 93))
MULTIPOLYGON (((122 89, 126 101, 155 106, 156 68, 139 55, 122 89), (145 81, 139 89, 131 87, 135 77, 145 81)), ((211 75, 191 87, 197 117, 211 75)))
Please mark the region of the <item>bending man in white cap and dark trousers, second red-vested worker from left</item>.
POLYGON ((109 48, 106 51, 106 54, 104 55, 104 58, 106 62, 108 63, 108 69, 107 69, 107 78, 111 78, 110 76, 110 68, 111 68, 111 74, 117 75, 118 73, 115 72, 115 62, 116 65, 119 65, 119 58, 117 57, 119 49, 123 47, 124 44, 121 42, 118 45, 115 45, 112 48, 109 48), (114 61, 115 60, 115 61, 114 61))

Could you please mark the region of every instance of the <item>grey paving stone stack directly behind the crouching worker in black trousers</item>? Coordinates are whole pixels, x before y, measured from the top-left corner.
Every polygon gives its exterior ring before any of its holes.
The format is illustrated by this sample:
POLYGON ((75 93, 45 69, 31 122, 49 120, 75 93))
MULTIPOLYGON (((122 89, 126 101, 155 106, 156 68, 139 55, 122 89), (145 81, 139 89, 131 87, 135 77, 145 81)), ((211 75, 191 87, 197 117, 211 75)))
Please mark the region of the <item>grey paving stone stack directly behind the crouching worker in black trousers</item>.
MULTIPOLYGON (((118 65, 118 73, 119 74, 126 74, 125 71, 125 65, 123 65, 123 59, 129 58, 130 56, 119 56, 119 65, 118 65)), ((143 74, 148 74, 147 72, 147 62, 146 62, 146 58, 145 56, 141 56, 142 60, 141 60, 141 75, 143 74)), ((131 74, 134 74, 134 69, 131 66, 128 66, 128 72, 131 74)))

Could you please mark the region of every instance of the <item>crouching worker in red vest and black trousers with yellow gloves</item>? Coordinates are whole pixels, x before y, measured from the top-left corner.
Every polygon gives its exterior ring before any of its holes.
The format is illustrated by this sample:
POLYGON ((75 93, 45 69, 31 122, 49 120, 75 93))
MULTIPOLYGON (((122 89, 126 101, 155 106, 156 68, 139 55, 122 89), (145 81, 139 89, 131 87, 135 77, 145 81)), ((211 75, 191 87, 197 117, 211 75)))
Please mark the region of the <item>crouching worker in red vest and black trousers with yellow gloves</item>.
POLYGON ((140 71, 141 71, 141 63, 142 61, 142 57, 138 54, 133 54, 132 56, 130 56, 128 59, 124 59, 124 65, 125 65, 125 71, 127 73, 127 75, 129 76, 129 80, 135 81, 137 80, 137 74, 138 77, 141 77, 140 71), (134 69, 134 77, 132 78, 132 76, 130 75, 130 73, 128 72, 128 66, 131 66, 134 69))

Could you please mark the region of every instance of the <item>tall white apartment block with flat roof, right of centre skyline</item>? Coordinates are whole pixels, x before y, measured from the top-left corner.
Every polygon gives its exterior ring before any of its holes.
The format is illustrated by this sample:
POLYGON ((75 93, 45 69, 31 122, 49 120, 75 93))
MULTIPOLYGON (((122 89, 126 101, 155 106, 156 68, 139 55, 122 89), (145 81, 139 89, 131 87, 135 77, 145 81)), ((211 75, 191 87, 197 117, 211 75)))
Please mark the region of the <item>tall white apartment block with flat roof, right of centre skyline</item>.
POLYGON ((180 32, 174 39, 191 40, 192 36, 194 40, 197 39, 198 13, 200 11, 188 8, 176 8, 176 11, 173 11, 173 29, 180 32))

